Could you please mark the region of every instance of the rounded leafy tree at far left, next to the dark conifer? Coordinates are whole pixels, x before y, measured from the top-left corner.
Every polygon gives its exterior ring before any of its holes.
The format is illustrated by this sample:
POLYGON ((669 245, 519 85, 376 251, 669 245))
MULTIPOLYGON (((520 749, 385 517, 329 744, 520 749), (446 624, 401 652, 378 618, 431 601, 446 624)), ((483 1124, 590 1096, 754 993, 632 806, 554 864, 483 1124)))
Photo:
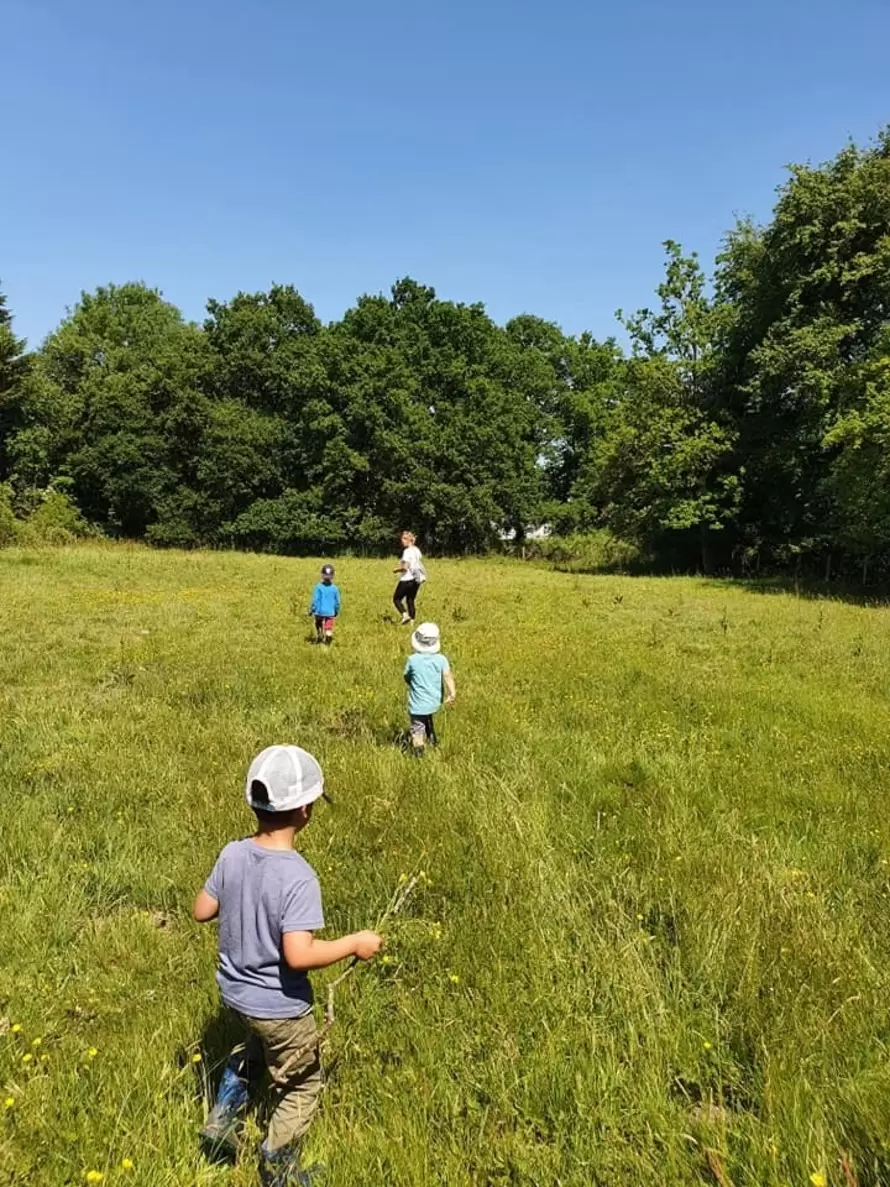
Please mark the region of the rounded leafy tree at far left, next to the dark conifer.
POLYGON ((158 292, 129 284, 83 293, 33 358, 13 480, 43 488, 70 477, 90 521, 142 535, 193 477, 204 373, 201 331, 158 292))

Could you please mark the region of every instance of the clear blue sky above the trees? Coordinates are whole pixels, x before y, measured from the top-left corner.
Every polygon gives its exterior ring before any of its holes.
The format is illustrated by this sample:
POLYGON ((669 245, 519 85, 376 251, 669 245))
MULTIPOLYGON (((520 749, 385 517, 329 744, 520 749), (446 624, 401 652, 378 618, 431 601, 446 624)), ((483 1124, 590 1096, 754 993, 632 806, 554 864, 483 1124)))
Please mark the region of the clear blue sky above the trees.
POLYGON ((577 334, 706 261, 783 166, 890 121, 888 0, 6 0, 0 287, 185 315, 401 275, 577 334))

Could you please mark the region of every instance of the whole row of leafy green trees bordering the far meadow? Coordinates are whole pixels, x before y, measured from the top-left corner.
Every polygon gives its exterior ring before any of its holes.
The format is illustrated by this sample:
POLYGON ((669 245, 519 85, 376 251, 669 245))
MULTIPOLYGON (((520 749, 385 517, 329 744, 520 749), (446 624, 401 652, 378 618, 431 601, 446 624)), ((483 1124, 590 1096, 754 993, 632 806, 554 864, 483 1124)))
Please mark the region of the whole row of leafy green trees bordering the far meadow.
POLYGON ((0 482, 119 537, 481 551, 609 529, 678 569, 890 567, 890 128, 790 169, 711 274, 666 246, 615 338, 399 280, 323 324, 291 285, 83 293, 34 351, 0 296, 0 482))

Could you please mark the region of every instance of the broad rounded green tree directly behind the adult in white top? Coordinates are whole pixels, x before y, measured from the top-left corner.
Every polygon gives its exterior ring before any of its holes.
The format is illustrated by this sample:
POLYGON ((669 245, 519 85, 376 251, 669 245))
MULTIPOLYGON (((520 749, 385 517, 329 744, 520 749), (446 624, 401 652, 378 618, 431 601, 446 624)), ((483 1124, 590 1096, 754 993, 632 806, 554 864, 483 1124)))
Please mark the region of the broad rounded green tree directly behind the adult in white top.
POLYGON ((354 504, 449 550, 521 534, 540 512, 541 418, 527 358, 482 305, 405 279, 333 328, 330 401, 354 504))

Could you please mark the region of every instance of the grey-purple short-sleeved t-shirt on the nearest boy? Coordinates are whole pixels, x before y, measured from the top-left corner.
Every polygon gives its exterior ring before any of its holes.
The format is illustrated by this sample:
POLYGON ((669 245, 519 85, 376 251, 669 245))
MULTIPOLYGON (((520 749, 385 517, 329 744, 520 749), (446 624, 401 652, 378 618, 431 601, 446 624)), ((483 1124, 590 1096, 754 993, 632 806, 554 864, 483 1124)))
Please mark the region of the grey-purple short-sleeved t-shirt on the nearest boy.
POLYGON ((253 1018, 299 1018, 312 1009, 305 972, 285 964, 285 932, 324 927, 316 871, 294 850, 233 840, 216 859, 204 889, 220 903, 223 1002, 253 1018))

